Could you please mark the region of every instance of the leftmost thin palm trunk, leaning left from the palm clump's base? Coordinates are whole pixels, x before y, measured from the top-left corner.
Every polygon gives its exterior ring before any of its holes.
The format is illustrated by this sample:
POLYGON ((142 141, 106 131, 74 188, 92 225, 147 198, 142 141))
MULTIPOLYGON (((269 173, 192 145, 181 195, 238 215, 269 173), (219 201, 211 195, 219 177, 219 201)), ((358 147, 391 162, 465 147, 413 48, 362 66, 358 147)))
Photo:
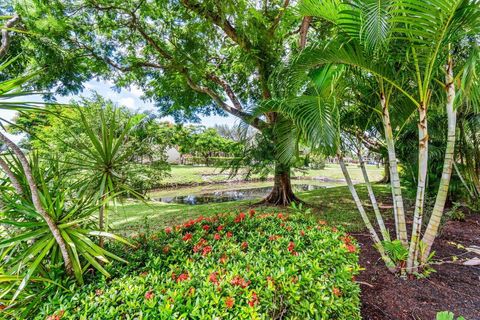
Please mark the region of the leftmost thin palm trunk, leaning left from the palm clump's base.
POLYGON ((352 194, 353 200, 355 201, 355 205, 357 206, 357 209, 360 212, 360 216, 362 217, 363 222, 365 223, 365 226, 367 227, 368 232, 370 233, 370 236, 373 240, 373 243, 375 244, 375 247, 380 253, 380 256, 385 262, 385 265, 387 266, 388 270, 390 272, 395 272, 395 265, 392 262, 392 260, 388 257, 388 255, 385 253, 385 249, 380 241, 380 238, 378 237, 377 232, 375 231, 372 224, 370 223, 370 219, 368 218, 367 213, 363 208, 362 202, 358 197, 357 190, 355 190, 355 186, 353 185, 352 179, 350 178, 350 174, 348 173, 347 166, 343 161, 343 156, 340 151, 338 151, 337 157, 338 157, 338 163, 340 164, 340 168, 342 169, 343 176, 345 177, 345 181, 347 182, 348 189, 352 194))

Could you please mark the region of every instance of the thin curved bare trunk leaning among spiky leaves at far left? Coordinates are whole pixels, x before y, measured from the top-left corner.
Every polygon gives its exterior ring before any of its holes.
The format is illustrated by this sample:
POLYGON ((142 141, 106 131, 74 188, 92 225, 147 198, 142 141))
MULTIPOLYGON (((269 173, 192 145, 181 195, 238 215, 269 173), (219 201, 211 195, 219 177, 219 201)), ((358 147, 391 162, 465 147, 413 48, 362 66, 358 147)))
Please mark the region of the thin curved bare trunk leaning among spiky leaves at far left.
MULTIPOLYGON (((0 132, 0 141, 4 142, 7 145, 7 147, 13 151, 13 153, 17 156, 18 160, 20 161, 20 164, 27 178, 30 192, 32 194, 32 202, 35 207, 35 210, 40 214, 40 216, 42 216, 42 218, 47 223, 48 228, 52 232, 52 235, 55 238, 55 241, 57 242, 60 252, 62 254, 63 261, 65 263, 65 270, 67 271, 67 274, 71 275, 73 273, 73 268, 72 268, 72 261, 70 260, 70 256, 68 255, 67 244, 65 243, 65 240, 63 239, 60 233, 60 229, 58 229, 58 226, 55 224, 53 219, 48 215, 48 213, 45 211, 45 209, 42 206, 37 185, 33 178, 32 170, 30 169, 30 164, 28 163, 27 158, 23 154, 22 150, 20 150, 20 148, 15 143, 13 143, 13 141, 8 139, 1 132, 0 132)), ((14 182, 12 181, 12 183, 14 182)))

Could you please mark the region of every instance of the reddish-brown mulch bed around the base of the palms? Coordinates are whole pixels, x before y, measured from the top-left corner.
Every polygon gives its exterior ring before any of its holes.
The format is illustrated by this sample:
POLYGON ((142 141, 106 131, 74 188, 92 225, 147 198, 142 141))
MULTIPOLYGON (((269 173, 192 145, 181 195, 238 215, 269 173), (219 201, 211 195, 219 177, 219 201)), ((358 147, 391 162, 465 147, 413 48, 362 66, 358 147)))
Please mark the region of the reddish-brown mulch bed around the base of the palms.
POLYGON ((473 257, 465 249, 480 246, 480 215, 465 221, 449 221, 436 239, 436 272, 424 279, 403 280, 390 274, 368 234, 353 234, 361 247, 360 265, 365 269, 357 277, 362 289, 362 317, 368 320, 431 320, 439 311, 452 311, 468 320, 480 320, 480 266, 452 263, 473 257), (452 244, 455 243, 455 244, 452 244))

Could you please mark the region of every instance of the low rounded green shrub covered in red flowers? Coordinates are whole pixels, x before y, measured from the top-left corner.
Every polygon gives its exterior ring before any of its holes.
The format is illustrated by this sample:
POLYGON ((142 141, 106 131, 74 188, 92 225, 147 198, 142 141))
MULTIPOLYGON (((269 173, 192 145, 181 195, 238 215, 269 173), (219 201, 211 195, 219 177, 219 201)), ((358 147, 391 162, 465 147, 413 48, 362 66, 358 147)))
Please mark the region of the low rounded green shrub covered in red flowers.
POLYGON ((357 247, 323 221, 252 210, 139 243, 113 280, 45 299, 38 319, 360 319, 357 247))

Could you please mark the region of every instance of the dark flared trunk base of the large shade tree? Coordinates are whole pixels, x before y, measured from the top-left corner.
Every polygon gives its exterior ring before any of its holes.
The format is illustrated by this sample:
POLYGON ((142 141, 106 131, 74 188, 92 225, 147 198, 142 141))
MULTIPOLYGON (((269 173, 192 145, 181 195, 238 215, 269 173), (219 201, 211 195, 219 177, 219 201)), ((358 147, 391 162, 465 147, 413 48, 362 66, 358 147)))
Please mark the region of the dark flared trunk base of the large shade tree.
POLYGON ((292 202, 302 202, 292 190, 290 179, 290 167, 277 163, 275 165, 275 177, 270 194, 263 199, 262 203, 276 206, 288 206, 292 202))

